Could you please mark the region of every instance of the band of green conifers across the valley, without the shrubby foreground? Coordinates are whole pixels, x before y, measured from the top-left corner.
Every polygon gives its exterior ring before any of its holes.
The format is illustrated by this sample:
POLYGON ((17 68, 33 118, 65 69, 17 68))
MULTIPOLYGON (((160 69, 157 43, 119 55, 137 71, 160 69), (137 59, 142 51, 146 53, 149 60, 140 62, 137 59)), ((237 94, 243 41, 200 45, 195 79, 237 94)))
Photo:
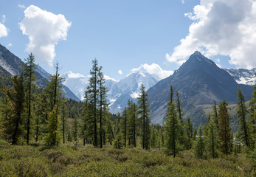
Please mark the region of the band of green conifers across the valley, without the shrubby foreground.
MULTIPOLYGON (((62 91, 58 63, 55 74, 44 88, 35 85, 35 56, 30 54, 21 67, 21 74, 12 78, 12 87, 1 91, 0 135, 13 145, 44 142, 48 147, 60 143, 83 142, 94 147, 162 148, 174 157, 181 150, 193 149, 197 158, 217 158, 221 153, 240 153, 241 147, 255 149, 256 87, 249 107, 238 89, 238 133, 232 133, 228 103, 214 102, 207 122, 193 127, 190 118, 183 118, 179 93, 170 86, 170 100, 163 125, 151 124, 145 86, 136 102, 129 100, 122 113, 108 110, 102 66, 92 61, 89 86, 84 102, 66 100, 62 91)), ((8 83, 10 85, 10 83, 8 83)))

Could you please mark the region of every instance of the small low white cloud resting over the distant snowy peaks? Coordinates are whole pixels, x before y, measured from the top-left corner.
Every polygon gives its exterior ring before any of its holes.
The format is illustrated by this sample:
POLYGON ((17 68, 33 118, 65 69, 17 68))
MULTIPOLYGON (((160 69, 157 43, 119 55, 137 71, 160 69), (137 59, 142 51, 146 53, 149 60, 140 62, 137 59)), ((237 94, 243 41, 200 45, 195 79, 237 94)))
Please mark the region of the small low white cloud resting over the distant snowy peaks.
POLYGON ((139 72, 141 70, 153 74, 158 80, 162 80, 173 74, 173 71, 164 70, 156 63, 152 63, 151 65, 148 65, 147 63, 142 64, 138 68, 131 69, 131 72, 139 72))

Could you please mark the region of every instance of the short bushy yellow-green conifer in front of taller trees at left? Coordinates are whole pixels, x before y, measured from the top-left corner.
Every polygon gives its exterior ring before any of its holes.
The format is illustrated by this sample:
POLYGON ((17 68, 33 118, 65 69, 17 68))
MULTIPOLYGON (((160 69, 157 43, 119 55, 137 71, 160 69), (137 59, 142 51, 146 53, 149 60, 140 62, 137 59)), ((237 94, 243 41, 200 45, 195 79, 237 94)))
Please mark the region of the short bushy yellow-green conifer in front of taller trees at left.
POLYGON ((49 113, 49 120, 47 121, 45 143, 49 147, 58 146, 60 143, 60 118, 57 114, 57 105, 49 113))

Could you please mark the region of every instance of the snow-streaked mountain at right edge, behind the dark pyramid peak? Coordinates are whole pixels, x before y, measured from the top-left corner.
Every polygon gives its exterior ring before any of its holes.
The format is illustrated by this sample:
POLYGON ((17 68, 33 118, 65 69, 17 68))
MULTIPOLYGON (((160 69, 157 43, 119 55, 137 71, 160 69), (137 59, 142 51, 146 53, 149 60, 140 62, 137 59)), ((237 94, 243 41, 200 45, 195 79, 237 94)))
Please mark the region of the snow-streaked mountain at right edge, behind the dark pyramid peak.
POLYGON ((255 69, 224 69, 228 72, 237 83, 255 86, 255 69))

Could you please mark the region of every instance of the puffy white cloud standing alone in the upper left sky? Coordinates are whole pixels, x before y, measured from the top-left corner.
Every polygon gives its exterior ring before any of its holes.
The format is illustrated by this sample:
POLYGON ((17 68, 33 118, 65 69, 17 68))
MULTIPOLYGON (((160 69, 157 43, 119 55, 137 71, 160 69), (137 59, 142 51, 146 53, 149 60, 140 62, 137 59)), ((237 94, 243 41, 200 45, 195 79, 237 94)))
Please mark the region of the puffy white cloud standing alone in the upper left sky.
POLYGON ((34 5, 24 10, 24 16, 19 27, 30 39, 27 52, 32 52, 36 60, 51 66, 56 55, 55 45, 66 40, 71 22, 64 15, 55 15, 34 5))

